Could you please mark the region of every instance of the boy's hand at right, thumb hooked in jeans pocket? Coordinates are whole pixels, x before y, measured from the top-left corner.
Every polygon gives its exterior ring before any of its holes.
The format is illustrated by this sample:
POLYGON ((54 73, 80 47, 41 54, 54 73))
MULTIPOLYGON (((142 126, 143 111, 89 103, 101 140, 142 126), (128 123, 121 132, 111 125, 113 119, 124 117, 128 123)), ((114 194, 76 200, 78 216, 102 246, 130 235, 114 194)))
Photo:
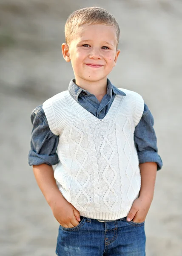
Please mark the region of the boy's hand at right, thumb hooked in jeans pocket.
POLYGON ((134 221, 137 223, 145 221, 151 202, 152 199, 149 198, 137 198, 128 213, 127 221, 134 221))

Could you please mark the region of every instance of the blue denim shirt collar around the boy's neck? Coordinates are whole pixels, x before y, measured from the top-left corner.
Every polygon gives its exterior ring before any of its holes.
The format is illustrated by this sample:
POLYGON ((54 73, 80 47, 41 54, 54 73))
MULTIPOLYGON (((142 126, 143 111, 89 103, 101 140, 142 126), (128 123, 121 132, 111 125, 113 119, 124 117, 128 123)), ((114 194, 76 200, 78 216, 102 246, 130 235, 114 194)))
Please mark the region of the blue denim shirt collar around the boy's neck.
MULTIPOLYGON (((86 90, 80 88, 77 84, 75 84, 75 79, 71 79, 68 86, 68 92, 77 102, 78 97, 82 91, 86 90)), ((86 92, 89 93, 88 91, 86 92)), ((114 92, 117 95, 126 96, 126 94, 123 91, 119 90, 117 87, 111 84, 111 81, 107 79, 107 94, 112 97, 112 92, 114 92)))

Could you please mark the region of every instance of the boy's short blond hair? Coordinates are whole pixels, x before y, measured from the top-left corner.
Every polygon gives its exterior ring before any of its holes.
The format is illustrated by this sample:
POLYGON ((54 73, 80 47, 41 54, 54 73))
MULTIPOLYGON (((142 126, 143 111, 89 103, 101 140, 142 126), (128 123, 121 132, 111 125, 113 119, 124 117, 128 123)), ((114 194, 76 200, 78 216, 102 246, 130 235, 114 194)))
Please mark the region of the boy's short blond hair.
POLYGON ((102 24, 114 26, 116 29, 117 45, 119 44, 119 24, 116 18, 108 11, 100 7, 87 7, 73 12, 65 23, 65 42, 69 44, 77 35, 77 29, 84 25, 102 24))

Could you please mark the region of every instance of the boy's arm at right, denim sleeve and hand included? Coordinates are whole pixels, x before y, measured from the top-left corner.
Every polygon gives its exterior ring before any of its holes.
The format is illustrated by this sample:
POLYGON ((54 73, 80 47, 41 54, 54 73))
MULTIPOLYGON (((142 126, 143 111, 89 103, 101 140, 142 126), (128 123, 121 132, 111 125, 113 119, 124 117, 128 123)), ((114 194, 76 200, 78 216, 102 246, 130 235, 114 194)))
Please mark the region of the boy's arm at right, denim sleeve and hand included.
POLYGON ((141 188, 139 198, 134 201, 128 213, 128 221, 145 221, 154 197, 156 171, 162 168, 162 160, 158 154, 156 134, 153 126, 154 118, 145 104, 142 118, 135 127, 134 132, 134 143, 139 158, 141 188))

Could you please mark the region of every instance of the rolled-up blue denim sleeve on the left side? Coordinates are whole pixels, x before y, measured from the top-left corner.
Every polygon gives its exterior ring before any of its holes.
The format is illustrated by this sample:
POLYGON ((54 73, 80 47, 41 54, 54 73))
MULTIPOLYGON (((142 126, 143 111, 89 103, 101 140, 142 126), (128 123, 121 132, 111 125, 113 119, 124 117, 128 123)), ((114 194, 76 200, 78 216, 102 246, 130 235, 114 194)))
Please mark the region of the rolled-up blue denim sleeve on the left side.
POLYGON ((59 162, 57 145, 59 136, 53 134, 48 126, 46 115, 42 105, 35 108, 31 113, 31 149, 28 154, 28 164, 40 165, 46 163, 50 166, 59 162))

